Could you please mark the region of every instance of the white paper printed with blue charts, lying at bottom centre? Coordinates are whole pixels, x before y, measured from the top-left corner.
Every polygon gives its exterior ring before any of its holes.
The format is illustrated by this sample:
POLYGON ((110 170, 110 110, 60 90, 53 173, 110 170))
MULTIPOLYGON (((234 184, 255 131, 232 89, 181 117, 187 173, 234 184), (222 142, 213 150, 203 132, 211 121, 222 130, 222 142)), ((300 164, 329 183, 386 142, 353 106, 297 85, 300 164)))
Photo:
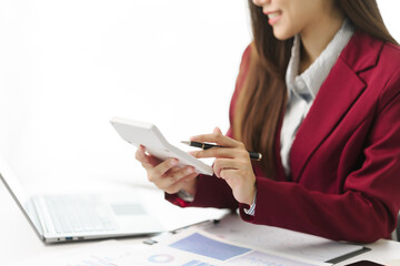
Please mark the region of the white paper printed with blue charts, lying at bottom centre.
POLYGON ((119 266, 316 266, 330 265, 311 259, 280 255, 270 250, 237 244, 209 234, 200 228, 189 228, 150 246, 140 254, 128 255, 119 266))

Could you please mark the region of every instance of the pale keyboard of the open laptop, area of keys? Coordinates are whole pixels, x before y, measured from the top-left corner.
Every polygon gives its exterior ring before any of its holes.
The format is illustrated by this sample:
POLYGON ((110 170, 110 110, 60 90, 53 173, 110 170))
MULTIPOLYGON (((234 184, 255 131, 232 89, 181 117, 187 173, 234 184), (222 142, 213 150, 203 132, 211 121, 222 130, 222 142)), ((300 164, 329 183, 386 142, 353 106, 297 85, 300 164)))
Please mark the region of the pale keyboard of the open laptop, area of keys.
POLYGON ((111 211, 96 195, 44 196, 57 233, 101 232, 118 228, 111 211))

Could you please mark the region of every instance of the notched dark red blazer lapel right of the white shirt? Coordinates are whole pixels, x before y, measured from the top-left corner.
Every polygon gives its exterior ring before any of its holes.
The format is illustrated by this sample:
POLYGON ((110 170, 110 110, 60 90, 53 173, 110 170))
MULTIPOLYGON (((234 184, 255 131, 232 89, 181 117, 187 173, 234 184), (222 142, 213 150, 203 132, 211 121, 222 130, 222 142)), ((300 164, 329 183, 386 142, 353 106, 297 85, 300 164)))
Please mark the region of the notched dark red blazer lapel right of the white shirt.
POLYGON ((290 153, 291 174, 294 181, 314 151, 340 123, 361 95, 366 84, 358 73, 374 65, 379 58, 380 41, 356 32, 343 49, 303 120, 290 153))

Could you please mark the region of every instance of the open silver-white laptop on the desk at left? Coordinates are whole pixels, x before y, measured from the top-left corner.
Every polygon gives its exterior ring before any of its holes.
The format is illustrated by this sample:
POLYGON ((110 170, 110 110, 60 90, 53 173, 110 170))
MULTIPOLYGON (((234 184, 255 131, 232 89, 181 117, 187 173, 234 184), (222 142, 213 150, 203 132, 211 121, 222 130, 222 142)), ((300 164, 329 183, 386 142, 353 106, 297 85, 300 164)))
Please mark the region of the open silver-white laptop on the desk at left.
POLYGON ((29 195, 1 157, 0 178, 44 243, 138 236, 163 231, 134 193, 29 195))

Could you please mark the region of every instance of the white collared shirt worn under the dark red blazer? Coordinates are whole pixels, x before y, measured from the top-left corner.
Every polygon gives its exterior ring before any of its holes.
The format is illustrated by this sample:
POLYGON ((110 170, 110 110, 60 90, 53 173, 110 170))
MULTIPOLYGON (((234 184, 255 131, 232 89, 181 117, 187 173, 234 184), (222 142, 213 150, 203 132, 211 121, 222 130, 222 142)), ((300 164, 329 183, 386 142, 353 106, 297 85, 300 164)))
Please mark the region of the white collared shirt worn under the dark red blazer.
MULTIPOLYGON (((309 112, 319 89, 337 62, 341 51, 354 33, 353 25, 344 20, 328 47, 317 60, 301 74, 300 65, 300 37, 294 37, 286 83, 288 88, 288 103, 281 129, 281 161, 287 176, 290 175, 290 150, 301 122, 309 112)), ((311 136, 310 136, 311 137, 311 136)))

